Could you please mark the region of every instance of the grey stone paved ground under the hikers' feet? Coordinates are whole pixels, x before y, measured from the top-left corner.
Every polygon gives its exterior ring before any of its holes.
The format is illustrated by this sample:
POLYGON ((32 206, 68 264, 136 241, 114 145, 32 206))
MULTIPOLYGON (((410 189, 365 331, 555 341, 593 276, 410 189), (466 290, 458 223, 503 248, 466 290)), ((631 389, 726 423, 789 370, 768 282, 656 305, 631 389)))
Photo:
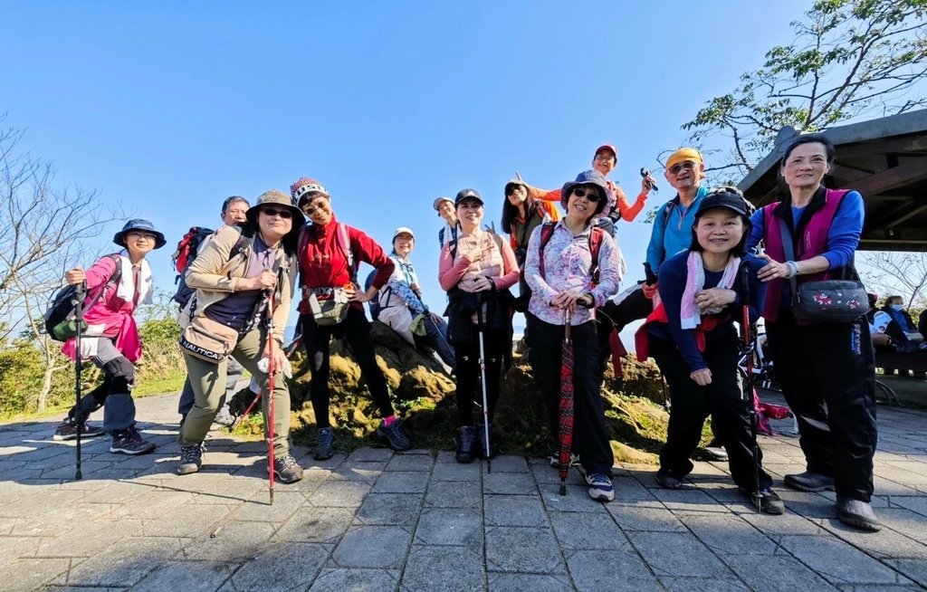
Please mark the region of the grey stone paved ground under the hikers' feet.
MULTIPOLYGON (((616 469, 616 500, 567 495, 543 460, 492 473, 448 451, 364 448, 314 462, 267 495, 260 443, 215 432, 204 471, 173 474, 175 397, 138 401, 155 454, 72 443, 54 422, 0 426, 0 589, 133 590, 916 590, 927 586, 927 413, 880 409, 877 507, 884 529, 835 519, 833 494, 782 489, 802 470, 794 435, 762 438, 788 511, 757 515, 722 464, 654 487, 616 469)), ((791 422, 776 426, 789 430, 791 422)))

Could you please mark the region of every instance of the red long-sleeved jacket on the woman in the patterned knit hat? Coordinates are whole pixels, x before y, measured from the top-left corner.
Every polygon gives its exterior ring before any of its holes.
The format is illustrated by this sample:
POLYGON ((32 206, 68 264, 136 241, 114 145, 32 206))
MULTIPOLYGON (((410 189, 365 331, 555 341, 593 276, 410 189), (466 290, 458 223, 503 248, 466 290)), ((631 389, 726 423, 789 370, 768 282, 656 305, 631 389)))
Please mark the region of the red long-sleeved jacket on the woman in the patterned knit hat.
MULTIPOLYGON (((350 270, 348 258, 338 241, 338 221, 335 216, 324 226, 310 224, 303 230, 306 238, 300 240, 302 250, 299 258, 299 284, 302 288, 341 287, 354 283, 354 287, 362 289, 357 282, 356 270, 350 270)), ((354 265, 361 261, 376 268, 373 285, 379 289, 386 285, 392 275, 395 264, 388 258, 383 249, 375 240, 362 231, 345 224, 348 230, 348 241, 354 265)), ((305 299, 305 293, 303 295, 305 299)), ((362 308, 358 302, 352 303, 362 308)))

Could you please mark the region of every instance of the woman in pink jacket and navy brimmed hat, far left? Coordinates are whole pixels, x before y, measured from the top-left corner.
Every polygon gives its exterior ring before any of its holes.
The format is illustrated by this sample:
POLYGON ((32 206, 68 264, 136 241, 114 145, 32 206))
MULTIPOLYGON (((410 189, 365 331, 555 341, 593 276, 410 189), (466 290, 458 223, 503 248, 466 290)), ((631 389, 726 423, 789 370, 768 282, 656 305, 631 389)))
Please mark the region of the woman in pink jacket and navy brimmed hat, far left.
POLYGON ((70 359, 90 359, 103 371, 103 384, 85 395, 80 402, 81 422, 77 408, 71 408, 55 430, 56 440, 108 434, 112 436, 109 451, 119 454, 144 454, 155 449, 135 429, 135 402, 132 387, 135 380, 134 362, 142 357, 142 341, 138 335, 133 312, 139 304, 150 304, 153 291, 151 269, 145 256, 164 246, 164 234, 155 230, 148 220, 129 220, 113 237, 123 247, 118 253, 97 260, 87 271, 81 267, 65 273, 71 285, 87 283, 89 301, 83 319, 87 330, 81 343, 71 337, 61 347, 70 359), (97 297, 97 295, 99 296, 97 297), (103 408, 103 429, 86 423, 96 409, 103 408))

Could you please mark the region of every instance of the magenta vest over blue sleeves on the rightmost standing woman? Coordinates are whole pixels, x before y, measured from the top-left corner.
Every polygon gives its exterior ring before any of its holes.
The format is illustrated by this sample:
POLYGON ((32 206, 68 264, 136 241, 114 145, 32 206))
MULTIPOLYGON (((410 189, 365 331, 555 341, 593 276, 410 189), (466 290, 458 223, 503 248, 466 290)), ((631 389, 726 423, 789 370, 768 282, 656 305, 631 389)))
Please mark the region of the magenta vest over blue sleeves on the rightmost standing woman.
MULTIPOLYGON (((827 236, 831 230, 833 217, 837 213, 840 202, 843 201, 844 195, 848 194, 847 189, 828 189, 824 192, 824 204, 817 211, 811 214, 807 220, 805 228, 798 236, 793 237, 793 248, 795 261, 803 261, 812 257, 817 257, 827 250, 827 236)), ((787 260, 782 246, 782 233, 779 224, 780 218, 775 215, 775 209, 782 206, 791 208, 781 201, 769 204, 763 207, 763 224, 765 229, 766 253, 776 261, 787 260)), ((810 206, 809 206, 810 207, 810 206)), ((820 271, 819 273, 809 273, 796 278, 797 283, 818 282, 831 277, 830 271, 820 271)), ((766 292, 766 303, 763 306, 763 317, 767 321, 776 321, 779 318, 779 308, 782 300, 782 290, 788 285, 789 281, 777 278, 769 282, 766 292)))

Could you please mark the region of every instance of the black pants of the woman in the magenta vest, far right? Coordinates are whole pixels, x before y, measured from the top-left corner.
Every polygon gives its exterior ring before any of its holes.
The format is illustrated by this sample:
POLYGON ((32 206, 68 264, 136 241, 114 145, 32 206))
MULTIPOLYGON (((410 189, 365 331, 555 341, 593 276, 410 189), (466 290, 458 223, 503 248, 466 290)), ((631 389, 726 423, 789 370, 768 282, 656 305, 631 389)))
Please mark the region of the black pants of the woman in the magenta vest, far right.
POLYGON ((878 430, 869 323, 799 325, 791 311, 780 314, 766 323, 769 355, 807 470, 833 477, 838 496, 870 501, 878 430))

